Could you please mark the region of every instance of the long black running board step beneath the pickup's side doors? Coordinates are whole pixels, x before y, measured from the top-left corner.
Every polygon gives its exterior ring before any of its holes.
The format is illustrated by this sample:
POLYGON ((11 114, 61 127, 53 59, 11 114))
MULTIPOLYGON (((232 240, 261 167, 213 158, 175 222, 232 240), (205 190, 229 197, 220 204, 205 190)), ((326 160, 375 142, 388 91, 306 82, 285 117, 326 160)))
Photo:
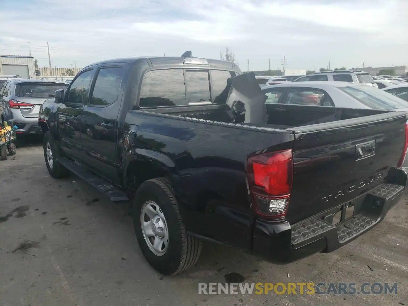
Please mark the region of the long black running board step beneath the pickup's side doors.
POLYGON ((93 188, 106 195, 112 202, 127 202, 129 198, 126 193, 118 190, 107 180, 95 175, 81 164, 68 159, 67 157, 59 157, 58 162, 69 171, 78 175, 82 180, 90 184, 93 188))

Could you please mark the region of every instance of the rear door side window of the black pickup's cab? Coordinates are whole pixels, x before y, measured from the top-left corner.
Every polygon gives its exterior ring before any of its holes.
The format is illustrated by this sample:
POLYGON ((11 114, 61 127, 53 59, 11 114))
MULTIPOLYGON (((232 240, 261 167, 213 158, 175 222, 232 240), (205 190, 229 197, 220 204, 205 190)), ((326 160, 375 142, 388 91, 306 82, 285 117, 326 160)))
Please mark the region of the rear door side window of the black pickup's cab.
POLYGON ((90 105, 106 106, 118 100, 123 68, 102 68, 98 72, 90 105))

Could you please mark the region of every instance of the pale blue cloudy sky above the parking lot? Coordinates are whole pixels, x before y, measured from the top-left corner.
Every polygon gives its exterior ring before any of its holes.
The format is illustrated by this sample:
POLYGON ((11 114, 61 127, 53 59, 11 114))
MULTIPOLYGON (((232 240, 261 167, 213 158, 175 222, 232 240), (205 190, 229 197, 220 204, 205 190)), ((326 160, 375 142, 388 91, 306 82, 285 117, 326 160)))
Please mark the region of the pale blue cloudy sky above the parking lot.
POLYGON ((408 0, 1 0, 0 53, 77 67, 129 56, 219 58, 242 71, 408 65, 408 0))

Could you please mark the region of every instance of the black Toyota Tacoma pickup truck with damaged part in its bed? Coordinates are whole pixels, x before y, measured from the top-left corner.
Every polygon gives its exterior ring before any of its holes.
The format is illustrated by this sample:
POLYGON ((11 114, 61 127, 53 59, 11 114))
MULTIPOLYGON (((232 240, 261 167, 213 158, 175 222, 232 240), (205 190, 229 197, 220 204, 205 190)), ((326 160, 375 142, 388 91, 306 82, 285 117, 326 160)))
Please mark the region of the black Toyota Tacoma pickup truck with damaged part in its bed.
POLYGON ((38 124, 51 176, 128 201, 165 275, 203 239, 287 263, 381 222, 406 186, 407 113, 265 102, 229 62, 126 58, 82 69, 38 124))

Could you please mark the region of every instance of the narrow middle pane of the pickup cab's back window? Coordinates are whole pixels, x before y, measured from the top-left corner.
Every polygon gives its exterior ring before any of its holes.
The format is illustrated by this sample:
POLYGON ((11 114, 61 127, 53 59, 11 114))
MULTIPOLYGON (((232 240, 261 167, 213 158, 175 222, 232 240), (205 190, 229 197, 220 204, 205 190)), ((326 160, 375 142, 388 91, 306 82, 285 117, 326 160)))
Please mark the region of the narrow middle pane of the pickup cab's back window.
POLYGON ((208 71, 186 71, 187 103, 208 102, 210 98, 210 78, 208 71))

